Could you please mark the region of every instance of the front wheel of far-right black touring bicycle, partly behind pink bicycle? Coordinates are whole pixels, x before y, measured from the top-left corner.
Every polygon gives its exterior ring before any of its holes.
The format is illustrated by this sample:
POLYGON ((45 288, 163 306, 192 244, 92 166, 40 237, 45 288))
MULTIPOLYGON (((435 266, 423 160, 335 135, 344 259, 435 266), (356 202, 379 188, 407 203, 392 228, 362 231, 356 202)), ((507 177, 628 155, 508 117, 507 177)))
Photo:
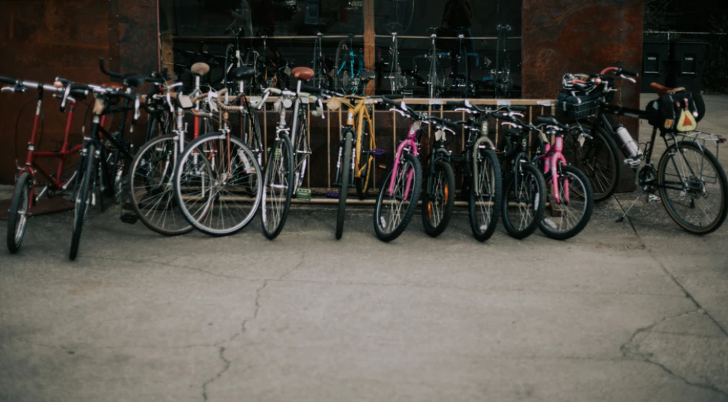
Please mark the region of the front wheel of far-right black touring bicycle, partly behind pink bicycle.
POLYGON ((594 201, 611 197, 620 184, 622 167, 617 143, 601 125, 593 130, 591 123, 581 125, 591 139, 579 143, 576 135, 567 135, 563 141, 563 156, 569 165, 584 172, 591 182, 594 201))

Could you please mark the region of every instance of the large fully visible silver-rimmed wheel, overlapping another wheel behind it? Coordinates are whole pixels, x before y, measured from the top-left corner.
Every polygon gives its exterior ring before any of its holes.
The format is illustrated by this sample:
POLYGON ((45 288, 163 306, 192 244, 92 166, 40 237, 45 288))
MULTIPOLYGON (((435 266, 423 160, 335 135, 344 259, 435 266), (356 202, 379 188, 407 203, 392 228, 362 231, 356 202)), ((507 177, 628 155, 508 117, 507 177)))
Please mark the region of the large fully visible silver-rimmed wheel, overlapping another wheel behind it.
POLYGON ((263 198, 261 168, 239 138, 210 133, 192 141, 175 169, 175 197, 187 221, 211 236, 250 224, 263 198))

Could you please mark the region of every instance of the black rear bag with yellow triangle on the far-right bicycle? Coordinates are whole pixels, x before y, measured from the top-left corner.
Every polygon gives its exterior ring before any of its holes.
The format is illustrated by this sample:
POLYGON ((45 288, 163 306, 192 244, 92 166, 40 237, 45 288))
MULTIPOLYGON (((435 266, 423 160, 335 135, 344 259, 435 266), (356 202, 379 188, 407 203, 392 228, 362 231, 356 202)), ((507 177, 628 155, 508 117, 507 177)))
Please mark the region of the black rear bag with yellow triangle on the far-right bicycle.
POLYGON ((647 104, 647 121, 662 132, 687 132, 697 129, 705 116, 705 102, 698 92, 662 95, 647 104))

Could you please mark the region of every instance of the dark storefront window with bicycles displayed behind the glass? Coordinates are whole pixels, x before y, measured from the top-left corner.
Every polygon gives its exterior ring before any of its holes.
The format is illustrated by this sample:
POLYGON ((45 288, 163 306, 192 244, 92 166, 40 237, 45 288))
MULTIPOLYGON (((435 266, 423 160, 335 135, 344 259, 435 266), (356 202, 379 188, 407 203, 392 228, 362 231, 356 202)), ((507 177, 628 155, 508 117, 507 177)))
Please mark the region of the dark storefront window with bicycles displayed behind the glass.
MULTIPOLYGON (((181 76, 205 61, 220 81, 240 50, 240 63, 314 67, 315 84, 342 92, 363 93, 357 75, 369 70, 380 94, 521 96, 520 0, 161 0, 160 28, 173 36, 181 76), (364 40, 368 26, 373 43, 364 40)), ((285 86, 285 76, 275 84, 285 86)))

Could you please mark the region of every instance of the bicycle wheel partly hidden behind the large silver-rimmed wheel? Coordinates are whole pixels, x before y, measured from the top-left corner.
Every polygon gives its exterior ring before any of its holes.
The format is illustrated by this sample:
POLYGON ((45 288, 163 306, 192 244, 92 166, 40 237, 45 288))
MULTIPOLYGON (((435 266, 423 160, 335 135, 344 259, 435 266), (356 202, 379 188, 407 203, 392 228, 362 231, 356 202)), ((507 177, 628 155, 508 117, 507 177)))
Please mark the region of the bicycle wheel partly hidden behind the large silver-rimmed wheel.
POLYGON ((154 138, 139 149, 130 173, 132 208, 146 227, 166 236, 192 230, 174 197, 173 173, 179 146, 177 135, 154 138))

